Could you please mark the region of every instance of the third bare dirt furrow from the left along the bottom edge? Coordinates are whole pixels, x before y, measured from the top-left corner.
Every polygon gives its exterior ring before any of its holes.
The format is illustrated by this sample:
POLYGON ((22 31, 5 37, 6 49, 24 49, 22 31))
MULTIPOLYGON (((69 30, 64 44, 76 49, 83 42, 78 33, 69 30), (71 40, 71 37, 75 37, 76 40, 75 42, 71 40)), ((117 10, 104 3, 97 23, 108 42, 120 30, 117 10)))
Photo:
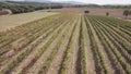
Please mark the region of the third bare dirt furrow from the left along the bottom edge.
POLYGON ((71 28, 69 29, 69 34, 67 35, 67 37, 64 38, 64 41, 60 46, 59 51, 58 51, 53 62, 51 63, 48 72, 46 74, 52 74, 52 73, 58 74, 59 73, 60 64, 62 62, 63 54, 64 54, 66 49, 68 47, 69 38, 71 37, 73 26, 74 25, 71 25, 71 28))

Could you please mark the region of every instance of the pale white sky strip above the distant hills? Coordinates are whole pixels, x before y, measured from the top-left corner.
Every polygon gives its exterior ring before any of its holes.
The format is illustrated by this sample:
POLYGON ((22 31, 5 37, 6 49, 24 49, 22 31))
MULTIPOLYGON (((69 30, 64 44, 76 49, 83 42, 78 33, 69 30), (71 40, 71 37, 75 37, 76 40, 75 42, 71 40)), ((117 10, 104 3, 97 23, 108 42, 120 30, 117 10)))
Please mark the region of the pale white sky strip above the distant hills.
MULTIPOLYGON (((23 0, 15 0, 15 1, 23 1, 23 0)), ((45 0, 39 0, 39 1, 45 1, 45 0)), ((96 3, 96 4, 131 4, 131 0, 46 0, 46 1, 79 1, 84 3, 96 3)))

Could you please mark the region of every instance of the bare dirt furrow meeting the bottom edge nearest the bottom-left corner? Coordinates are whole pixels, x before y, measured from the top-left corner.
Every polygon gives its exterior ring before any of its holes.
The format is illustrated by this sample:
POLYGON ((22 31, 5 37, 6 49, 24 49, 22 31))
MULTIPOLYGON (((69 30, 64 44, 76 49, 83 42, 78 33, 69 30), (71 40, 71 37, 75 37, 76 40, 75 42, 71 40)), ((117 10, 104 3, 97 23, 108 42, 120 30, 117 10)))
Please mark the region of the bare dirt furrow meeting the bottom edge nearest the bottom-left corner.
MULTIPOLYGON (((67 22, 66 22, 67 23, 67 22)), ((63 23, 64 24, 64 23, 63 23)), ((55 33, 57 33, 60 28, 62 28, 63 25, 60 25, 51 35, 49 35, 49 37, 47 37, 46 39, 44 39, 41 41, 41 44, 39 44, 36 48, 34 48, 34 50, 29 53, 29 55, 19 64, 17 67, 15 67, 11 74, 19 74, 23 67, 25 67, 27 64, 29 64, 29 62, 35 58, 36 53, 38 52, 38 49, 40 49, 51 37, 55 33)))

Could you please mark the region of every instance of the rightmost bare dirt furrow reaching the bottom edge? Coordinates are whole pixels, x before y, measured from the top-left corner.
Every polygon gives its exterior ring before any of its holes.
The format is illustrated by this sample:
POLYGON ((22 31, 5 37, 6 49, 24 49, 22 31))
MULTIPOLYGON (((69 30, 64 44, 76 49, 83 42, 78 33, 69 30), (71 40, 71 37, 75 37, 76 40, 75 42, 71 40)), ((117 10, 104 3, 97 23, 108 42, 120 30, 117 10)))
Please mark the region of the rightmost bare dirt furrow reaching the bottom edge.
MULTIPOLYGON (((87 18, 87 21, 88 21, 88 18, 87 18)), ((96 45, 97 45, 97 49, 98 49, 97 51, 100 55, 100 59, 103 60, 100 62, 103 62, 102 65, 104 67, 104 71, 105 71, 105 73, 114 74, 115 71, 111 69, 111 64, 109 62, 108 55, 106 54, 104 46, 102 45, 100 40, 97 37, 97 34, 93 27, 93 24, 91 24, 90 21, 88 21, 88 24, 91 26, 92 32, 94 33, 94 38, 96 40, 96 45)))

